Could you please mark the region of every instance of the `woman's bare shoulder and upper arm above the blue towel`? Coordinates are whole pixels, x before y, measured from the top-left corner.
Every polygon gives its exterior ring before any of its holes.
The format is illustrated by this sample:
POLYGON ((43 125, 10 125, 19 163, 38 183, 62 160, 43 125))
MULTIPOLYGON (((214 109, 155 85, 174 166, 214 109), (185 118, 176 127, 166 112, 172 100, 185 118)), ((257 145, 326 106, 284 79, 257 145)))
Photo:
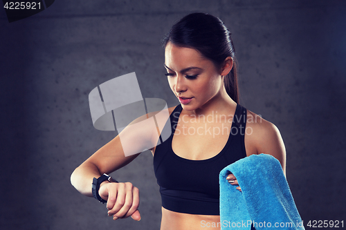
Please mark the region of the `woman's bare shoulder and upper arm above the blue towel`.
POLYGON ((251 151, 248 155, 260 153, 273 155, 280 161, 282 169, 285 171, 286 150, 277 126, 260 115, 248 111, 246 129, 246 150, 251 151))

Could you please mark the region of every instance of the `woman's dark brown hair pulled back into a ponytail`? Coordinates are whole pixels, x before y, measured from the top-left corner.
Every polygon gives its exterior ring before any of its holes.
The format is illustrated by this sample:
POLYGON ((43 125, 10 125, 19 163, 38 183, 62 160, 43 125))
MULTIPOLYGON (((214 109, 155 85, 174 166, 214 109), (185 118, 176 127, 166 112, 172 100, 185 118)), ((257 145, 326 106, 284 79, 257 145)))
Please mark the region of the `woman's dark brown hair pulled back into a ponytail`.
POLYGON ((225 76, 224 84, 230 98, 239 104, 235 48, 223 21, 206 13, 192 13, 172 26, 163 39, 163 46, 169 41, 176 46, 198 50, 218 68, 224 64, 226 57, 232 57, 233 68, 225 76))

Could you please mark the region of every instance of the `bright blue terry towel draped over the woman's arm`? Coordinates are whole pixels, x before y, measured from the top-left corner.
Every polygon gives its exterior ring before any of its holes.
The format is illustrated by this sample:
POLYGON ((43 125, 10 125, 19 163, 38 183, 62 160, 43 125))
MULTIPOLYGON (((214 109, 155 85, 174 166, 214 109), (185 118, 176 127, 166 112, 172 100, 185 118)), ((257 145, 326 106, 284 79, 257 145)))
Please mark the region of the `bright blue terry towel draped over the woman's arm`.
POLYGON ((280 162, 272 155, 245 157, 220 172, 221 229, 304 229, 280 162), (229 184, 233 173, 242 192, 229 184))

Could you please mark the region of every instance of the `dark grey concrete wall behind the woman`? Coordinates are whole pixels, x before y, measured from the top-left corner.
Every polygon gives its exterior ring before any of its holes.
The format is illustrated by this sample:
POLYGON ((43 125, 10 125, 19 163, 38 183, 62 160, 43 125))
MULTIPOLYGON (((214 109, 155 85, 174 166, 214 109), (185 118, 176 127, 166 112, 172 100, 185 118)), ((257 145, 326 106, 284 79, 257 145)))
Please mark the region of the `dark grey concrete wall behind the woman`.
POLYGON ((1 230, 159 228, 149 152, 112 174, 140 189, 140 222, 111 220, 70 175, 116 135, 93 128, 88 95, 99 84, 136 72, 143 97, 179 103, 160 40, 190 12, 233 33, 241 104, 280 129, 304 224, 346 224, 345 1, 60 0, 13 23, 0 9, 1 230))

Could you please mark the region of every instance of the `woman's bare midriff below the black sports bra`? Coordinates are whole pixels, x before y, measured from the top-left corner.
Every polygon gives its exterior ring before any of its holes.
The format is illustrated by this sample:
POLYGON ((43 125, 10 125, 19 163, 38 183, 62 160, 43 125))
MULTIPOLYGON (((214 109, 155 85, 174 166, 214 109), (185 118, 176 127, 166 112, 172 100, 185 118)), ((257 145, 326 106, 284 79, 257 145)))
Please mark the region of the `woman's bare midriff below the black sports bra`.
POLYGON ((221 229, 219 215, 177 213, 162 208, 161 230, 221 229))

